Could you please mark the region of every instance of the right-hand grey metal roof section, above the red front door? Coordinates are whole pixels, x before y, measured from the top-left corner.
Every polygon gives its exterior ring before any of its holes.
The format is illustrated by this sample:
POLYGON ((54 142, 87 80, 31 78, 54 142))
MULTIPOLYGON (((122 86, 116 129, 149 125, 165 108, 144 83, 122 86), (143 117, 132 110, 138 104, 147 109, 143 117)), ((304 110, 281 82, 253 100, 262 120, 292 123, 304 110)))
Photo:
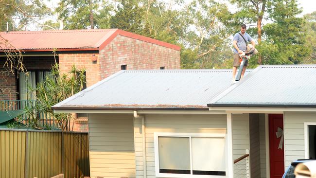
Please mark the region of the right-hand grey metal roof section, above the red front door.
POLYGON ((209 107, 316 107, 316 65, 259 66, 209 107))

